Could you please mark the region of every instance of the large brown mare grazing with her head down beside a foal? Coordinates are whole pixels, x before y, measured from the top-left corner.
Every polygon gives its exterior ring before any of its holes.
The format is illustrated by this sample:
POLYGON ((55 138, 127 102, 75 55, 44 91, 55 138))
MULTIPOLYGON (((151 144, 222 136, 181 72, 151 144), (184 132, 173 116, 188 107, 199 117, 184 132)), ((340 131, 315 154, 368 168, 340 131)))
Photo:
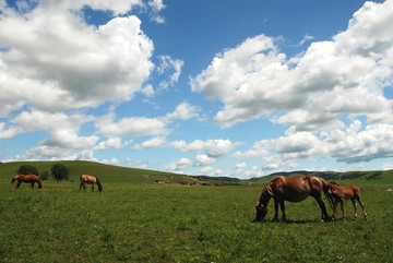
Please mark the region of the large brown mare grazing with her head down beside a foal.
POLYGON ((278 220, 278 204, 283 212, 283 220, 286 220, 284 201, 300 202, 309 195, 314 198, 322 211, 322 222, 327 220, 327 212, 322 201, 322 192, 329 203, 332 202, 329 194, 327 182, 314 176, 283 177, 278 176, 270 180, 263 189, 261 198, 257 202, 257 222, 262 220, 267 214, 267 203, 274 199, 275 214, 273 220, 278 220))

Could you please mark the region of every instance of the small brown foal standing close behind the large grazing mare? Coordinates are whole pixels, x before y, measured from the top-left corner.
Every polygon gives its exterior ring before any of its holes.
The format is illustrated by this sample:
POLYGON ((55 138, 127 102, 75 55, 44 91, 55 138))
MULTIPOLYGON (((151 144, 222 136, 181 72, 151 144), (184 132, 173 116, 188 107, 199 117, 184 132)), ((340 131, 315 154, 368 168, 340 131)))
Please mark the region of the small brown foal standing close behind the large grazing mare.
POLYGON ((354 208, 355 208, 354 220, 357 218, 357 203, 356 203, 356 201, 359 202, 359 204, 360 204, 360 206, 361 206, 361 208, 364 211, 365 220, 367 220, 366 207, 365 207, 365 204, 361 202, 360 189, 359 188, 354 187, 354 186, 342 188, 335 181, 330 181, 329 182, 329 192, 333 196, 333 216, 332 216, 332 219, 334 219, 337 203, 340 203, 340 205, 341 205, 341 208, 342 208, 342 212, 343 212, 343 219, 345 219, 344 203, 346 201, 350 200, 353 205, 354 205, 354 208))

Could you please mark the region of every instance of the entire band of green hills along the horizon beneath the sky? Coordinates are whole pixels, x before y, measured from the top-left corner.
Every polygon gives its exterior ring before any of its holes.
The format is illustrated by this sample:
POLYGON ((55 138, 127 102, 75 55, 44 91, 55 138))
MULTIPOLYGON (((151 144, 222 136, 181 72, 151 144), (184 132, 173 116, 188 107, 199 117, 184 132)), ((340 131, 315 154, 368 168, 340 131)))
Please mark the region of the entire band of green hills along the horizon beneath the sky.
MULTIPOLYGON (((22 165, 31 165, 37 168, 39 174, 49 171, 52 165, 62 164, 70 170, 70 182, 79 182, 81 175, 97 176, 100 181, 107 183, 131 183, 131 184, 191 184, 191 186, 239 186, 239 184, 264 184, 273 177, 285 176, 295 177, 302 175, 312 175, 324 178, 325 180, 359 180, 362 184, 393 186, 393 170, 374 170, 374 171, 283 171, 274 172, 269 176, 252 178, 249 180, 240 180, 230 177, 209 177, 209 176, 187 176, 180 174, 171 174, 156 170, 129 168, 114 165, 106 165, 86 160, 61 160, 61 162, 14 162, 0 163, 0 181, 11 181, 16 175, 16 170, 22 165)), ((50 181, 52 179, 50 178, 50 181)))

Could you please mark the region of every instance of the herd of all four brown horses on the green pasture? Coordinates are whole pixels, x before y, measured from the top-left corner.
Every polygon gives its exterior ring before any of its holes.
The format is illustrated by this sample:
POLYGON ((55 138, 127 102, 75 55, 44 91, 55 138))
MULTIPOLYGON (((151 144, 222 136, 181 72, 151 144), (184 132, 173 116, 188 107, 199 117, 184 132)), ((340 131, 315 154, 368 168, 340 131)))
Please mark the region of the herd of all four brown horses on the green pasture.
MULTIPOLYGON (((32 189, 34 184, 37 182, 38 188, 43 188, 43 182, 36 175, 19 175, 12 178, 11 183, 15 183, 17 181, 16 189, 21 186, 22 182, 31 183, 32 189)), ((82 175, 80 177, 80 191, 86 190, 86 183, 92 184, 92 191, 94 192, 94 186, 97 184, 98 191, 103 192, 103 184, 99 179, 95 176, 82 175)), ((344 214, 344 203, 348 200, 352 201, 354 205, 354 219, 357 218, 357 203, 360 204, 365 219, 367 220, 367 213, 365 204, 360 199, 360 189, 354 186, 349 187, 340 187, 335 181, 326 182, 324 179, 315 177, 315 176, 299 176, 299 177, 283 177, 277 176, 270 180, 267 184, 262 190, 261 196, 257 202, 257 218, 255 222, 262 220, 267 214, 267 204, 269 201, 273 198, 274 200, 274 218, 273 220, 278 220, 278 205, 282 211, 282 219, 286 220, 285 214, 285 205, 284 201, 288 202, 300 202, 306 200, 308 196, 312 196, 318 202, 321 212, 322 218, 321 220, 329 220, 326 207, 324 202, 322 201, 322 193, 325 194, 330 205, 333 208, 332 219, 335 218, 337 204, 341 205, 341 210, 343 213, 343 218, 345 218, 344 214)))

